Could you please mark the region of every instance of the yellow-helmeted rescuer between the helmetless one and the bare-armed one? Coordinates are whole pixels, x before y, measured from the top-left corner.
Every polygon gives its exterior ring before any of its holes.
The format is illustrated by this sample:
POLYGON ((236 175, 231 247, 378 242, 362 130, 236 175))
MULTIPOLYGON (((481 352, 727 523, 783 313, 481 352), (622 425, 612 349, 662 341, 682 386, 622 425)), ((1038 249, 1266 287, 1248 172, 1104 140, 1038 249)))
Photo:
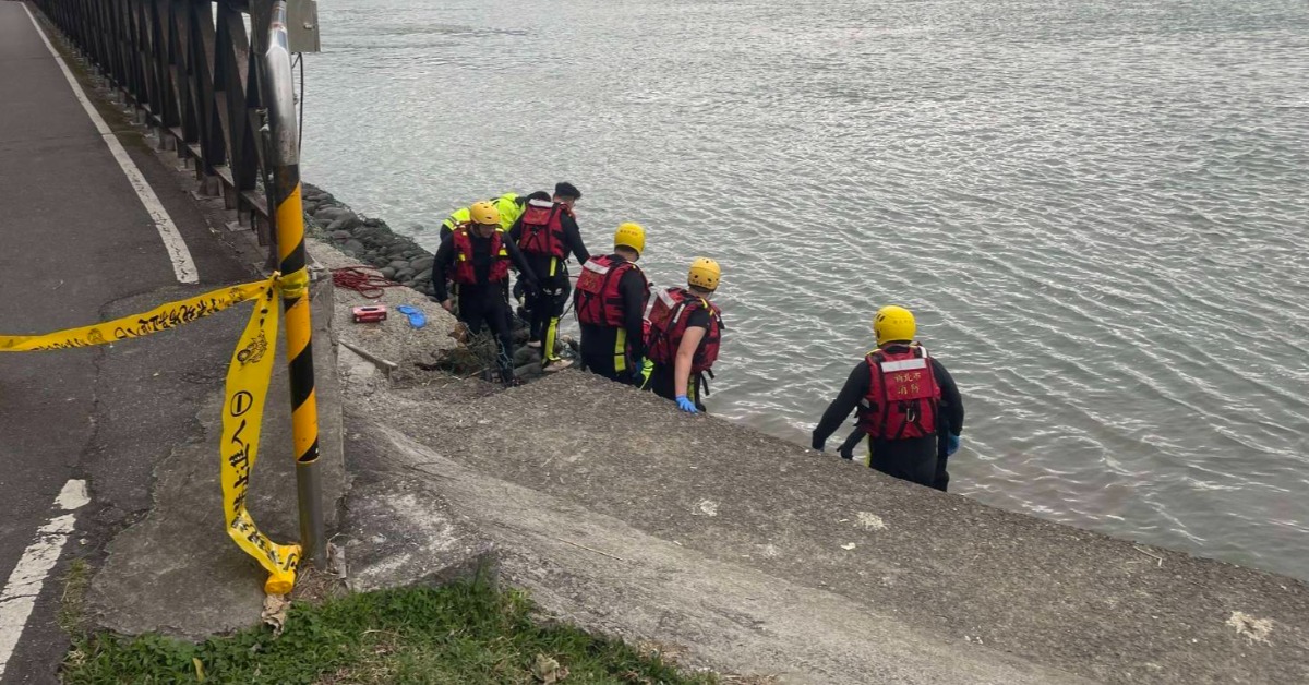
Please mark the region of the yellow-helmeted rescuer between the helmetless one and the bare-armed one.
POLYGON ((573 295, 573 310, 581 324, 583 367, 634 385, 644 382, 649 282, 634 263, 644 249, 644 228, 619 225, 614 232, 614 254, 588 259, 573 295))

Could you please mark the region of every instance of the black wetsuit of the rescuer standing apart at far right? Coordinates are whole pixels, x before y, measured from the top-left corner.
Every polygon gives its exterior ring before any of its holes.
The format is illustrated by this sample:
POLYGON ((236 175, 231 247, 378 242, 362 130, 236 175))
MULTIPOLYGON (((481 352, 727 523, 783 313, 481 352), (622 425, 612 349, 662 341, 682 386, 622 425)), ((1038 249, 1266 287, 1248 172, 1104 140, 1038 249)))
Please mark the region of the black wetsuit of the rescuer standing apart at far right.
MULTIPOLYGON (((906 346, 890 346, 888 351, 903 351, 905 348, 906 346)), ((959 389, 954 385, 954 379, 936 358, 928 358, 928 360, 932 364, 936 384, 941 388, 937 423, 948 427, 945 430, 954 435, 959 435, 963 427, 963 399, 959 397, 959 389)), ((827 411, 823 413, 822 420, 814 428, 814 449, 823 449, 827 437, 840 427, 846 418, 850 417, 850 413, 868 394, 870 384, 872 372, 865 359, 850 372, 850 377, 846 379, 846 385, 840 389, 840 394, 831 402, 827 411)), ((864 437, 863 431, 856 431, 856 435, 860 439, 864 437)), ((869 466, 905 481, 945 490, 949 482, 949 475, 945 474, 945 460, 941 458, 945 454, 945 435, 939 427, 937 435, 933 436, 908 440, 873 440, 869 466)), ((851 435, 850 440, 842 448, 853 447, 851 445, 852 441, 855 441, 855 435, 851 435)))

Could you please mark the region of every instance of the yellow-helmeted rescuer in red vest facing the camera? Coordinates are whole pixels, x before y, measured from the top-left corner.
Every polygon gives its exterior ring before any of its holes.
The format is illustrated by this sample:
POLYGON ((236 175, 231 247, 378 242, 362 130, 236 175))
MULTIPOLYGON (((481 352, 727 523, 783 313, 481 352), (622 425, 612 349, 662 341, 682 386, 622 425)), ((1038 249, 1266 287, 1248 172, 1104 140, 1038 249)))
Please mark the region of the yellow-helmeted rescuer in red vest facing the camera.
POLYGON ((459 304, 459 321, 469 333, 476 335, 486 324, 496 339, 496 365, 505 385, 518 385, 513 375, 513 337, 509 330, 509 303, 504 299, 504 284, 509 279, 509 263, 518 267, 526 279, 529 292, 537 289, 537 276, 522 258, 517 245, 500 232, 500 212, 490 202, 475 202, 469 207, 470 221, 456 227, 441 241, 432 265, 432 287, 436 300, 446 312, 454 303, 445 289, 449 274, 459 304))

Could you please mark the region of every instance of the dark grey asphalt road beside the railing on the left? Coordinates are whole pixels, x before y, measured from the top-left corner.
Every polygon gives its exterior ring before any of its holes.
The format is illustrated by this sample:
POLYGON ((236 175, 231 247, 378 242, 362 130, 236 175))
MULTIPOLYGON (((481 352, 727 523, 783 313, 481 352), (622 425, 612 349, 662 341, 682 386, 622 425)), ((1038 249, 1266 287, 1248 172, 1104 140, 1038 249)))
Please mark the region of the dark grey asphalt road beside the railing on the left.
MULTIPOLYGON (((0 333, 86 325, 250 280, 250 268, 211 234, 175 170, 120 111, 97 107, 178 225, 200 283, 178 283, 141 199, 24 7, 0 1, 0 333)), ((4 684, 55 681, 68 642, 54 617, 69 558, 94 561, 109 536, 147 511, 153 466, 194 439, 200 398, 220 392, 241 318, 131 344, 0 355, 0 583, 50 520, 69 478, 88 478, 93 498, 4 684)))

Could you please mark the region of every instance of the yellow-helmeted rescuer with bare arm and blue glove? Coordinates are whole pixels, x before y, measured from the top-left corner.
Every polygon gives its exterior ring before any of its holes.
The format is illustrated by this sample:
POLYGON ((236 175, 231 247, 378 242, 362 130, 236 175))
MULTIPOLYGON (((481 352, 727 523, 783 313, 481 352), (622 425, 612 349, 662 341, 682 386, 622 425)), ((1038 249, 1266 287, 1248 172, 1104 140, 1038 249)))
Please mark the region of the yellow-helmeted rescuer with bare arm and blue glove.
POLYGON ((704 411, 704 375, 713 377, 711 367, 723 342, 723 312, 709 301, 721 276, 717 262, 698 257, 686 275, 686 288, 660 292, 651 310, 648 344, 653 367, 645 388, 690 414, 704 411))

